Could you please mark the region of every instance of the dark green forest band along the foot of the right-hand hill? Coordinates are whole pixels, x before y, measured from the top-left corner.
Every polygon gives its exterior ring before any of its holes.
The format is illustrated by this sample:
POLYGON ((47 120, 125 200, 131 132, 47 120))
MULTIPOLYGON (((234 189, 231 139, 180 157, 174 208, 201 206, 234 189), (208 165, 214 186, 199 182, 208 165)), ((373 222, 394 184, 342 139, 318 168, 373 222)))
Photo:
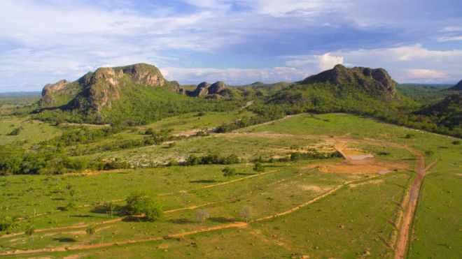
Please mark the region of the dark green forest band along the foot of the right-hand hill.
POLYGON ((409 128, 421 129, 462 138, 461 95, 448 96, 441 103, 421 105, 400 96, 400 100, 384 101, 367 96, 358 90, 342 89, 333 93, 314 86, 295 85, 279 91, 265 100, 257 100, 248 107, 257 116, 233 121, 216 128, 217 133, 234 131, 255 124, 281 119, 304 112, 343 112, 374 117, 381 121, 409 128), (420 110, 421 109, 421 110, 420 110))

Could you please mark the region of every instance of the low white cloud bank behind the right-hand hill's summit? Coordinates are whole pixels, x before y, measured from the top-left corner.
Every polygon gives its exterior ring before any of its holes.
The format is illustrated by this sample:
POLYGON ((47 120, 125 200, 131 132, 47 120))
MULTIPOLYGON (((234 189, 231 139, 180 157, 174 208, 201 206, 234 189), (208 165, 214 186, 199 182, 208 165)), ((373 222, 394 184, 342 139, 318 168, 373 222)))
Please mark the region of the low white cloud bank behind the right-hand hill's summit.
POLYGON ((304 68, 310 73, 332 68, 332 64, 343 63, 346 66, 385 68, 398 82, 447 83, 457 82, 462 77, 462 50, 428 50, 421 45, 376 50, 343 50, 323 55, 287 58, 287 66, 304 68))

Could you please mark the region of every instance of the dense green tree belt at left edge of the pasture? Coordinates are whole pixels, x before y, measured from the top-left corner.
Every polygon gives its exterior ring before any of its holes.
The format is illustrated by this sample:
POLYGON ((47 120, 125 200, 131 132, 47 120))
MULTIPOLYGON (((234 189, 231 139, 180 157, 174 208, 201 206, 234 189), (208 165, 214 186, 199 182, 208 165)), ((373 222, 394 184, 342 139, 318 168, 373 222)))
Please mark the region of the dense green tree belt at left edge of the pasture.
MULTIPOLYGON (((66 149, 72 145, 88 144, 104 138, 109 138, 115 133, 123 131, 123 127, 111 126, 89 130, 79 128, 69 131, 62 135, 46 140, 31 149, 23 149, 15 146, 0 146, 0 175, 47 175, 64 174, 67 172, 80 172, 82 170, 111 170, 120 168, 130 168, 130 163, 114 158, 103 161, 102 158, 72 158, 66 154, 66 149)), ((172 140, 177 137, 170 135, 169 131, 155 132, 148 129, 143 140, 129 140, 126 143, 112 145, 112 149, 123 149, 130 147, 140 147, 144 145, 159 145, 162 142, 172 140)), ((111 149, 109 146, 107 149, 111 149)), ((71 156, 90 153, 92 149, 81 151, 73 149, 71 156)), ((68 152, 69 153, 69 152, 68 152)))

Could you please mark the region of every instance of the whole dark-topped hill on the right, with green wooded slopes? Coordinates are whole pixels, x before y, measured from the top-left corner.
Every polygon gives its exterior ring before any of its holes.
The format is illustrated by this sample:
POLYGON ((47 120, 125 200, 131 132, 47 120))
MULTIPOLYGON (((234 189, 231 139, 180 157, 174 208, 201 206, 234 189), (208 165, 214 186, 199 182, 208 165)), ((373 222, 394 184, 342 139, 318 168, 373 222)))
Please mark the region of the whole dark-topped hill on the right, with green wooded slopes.
POLYGON ((293 112, 357 112, 372 114, 391 107, 414 105, 396 88, 383 68, 334 68, 311 75, 277 91, 267 104, 286 105, 293 112))

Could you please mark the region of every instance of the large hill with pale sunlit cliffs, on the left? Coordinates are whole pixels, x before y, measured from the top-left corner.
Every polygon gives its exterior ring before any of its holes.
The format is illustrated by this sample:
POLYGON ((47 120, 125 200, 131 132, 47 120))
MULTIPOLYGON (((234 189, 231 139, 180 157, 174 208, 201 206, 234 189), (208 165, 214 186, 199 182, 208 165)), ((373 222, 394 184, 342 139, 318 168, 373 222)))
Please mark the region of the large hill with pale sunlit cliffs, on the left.
POLYGON ((225 101, 200 102, 183 93, 152 65, 98 68, 74 82, 45 85, 35 113, 54 122, 146 124, 183 112, 228 110, 225 101))

